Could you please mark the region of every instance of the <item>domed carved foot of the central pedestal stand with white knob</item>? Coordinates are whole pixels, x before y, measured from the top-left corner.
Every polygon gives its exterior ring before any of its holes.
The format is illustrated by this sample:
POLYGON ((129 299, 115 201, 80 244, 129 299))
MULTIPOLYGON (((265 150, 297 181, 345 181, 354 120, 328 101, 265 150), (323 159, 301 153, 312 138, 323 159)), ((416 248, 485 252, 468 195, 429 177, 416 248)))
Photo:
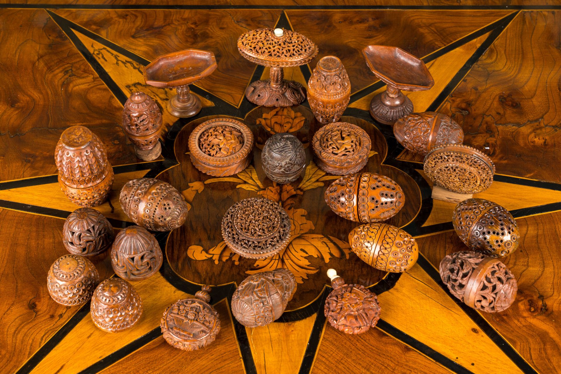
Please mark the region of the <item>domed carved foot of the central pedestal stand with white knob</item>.
POLYGON ((246 98, 256 105, 264 107, 290 107, 306 100, 306 89, 295 81, 283 80, 273 88, 270 80, 255 81, 246 89, 246 98))

